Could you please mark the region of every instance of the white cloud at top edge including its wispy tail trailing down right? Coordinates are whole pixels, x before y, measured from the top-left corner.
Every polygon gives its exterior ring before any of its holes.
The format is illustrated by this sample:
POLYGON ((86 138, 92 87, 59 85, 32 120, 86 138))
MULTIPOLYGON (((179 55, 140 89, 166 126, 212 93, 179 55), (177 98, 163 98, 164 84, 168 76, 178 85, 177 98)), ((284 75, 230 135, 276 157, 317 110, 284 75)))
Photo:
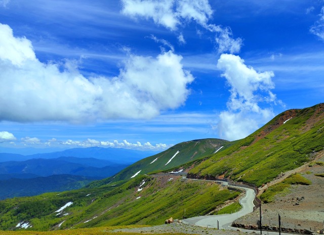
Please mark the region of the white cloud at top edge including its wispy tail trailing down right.
MULTIPOLYGON (((122 0, 122 2, 125 15, 132 18, 152 19, 155 24, 163 25, 172 31, 185 22, 195 21, 209 31, 216 32, 215 42, 220 54, 238 53, 242 46, 242 39, 239 37, 234 39, 229 27, 208 24, 213 15, 208 0, 122 0)), ((178 36, 178 41, 185 43, 182 34, 178 36)))

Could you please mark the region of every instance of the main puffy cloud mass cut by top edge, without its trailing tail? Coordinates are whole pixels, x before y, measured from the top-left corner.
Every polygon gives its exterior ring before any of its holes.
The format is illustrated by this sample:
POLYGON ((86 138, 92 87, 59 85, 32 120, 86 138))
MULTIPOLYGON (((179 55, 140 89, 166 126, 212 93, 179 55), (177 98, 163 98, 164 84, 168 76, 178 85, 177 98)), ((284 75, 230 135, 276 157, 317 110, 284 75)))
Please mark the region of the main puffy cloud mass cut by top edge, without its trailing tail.
POLYGON ((208 0, 122 0, 122 3, 123 14, 152 19, 170 30, 190 20, 206 25, 213 14, 208 0))

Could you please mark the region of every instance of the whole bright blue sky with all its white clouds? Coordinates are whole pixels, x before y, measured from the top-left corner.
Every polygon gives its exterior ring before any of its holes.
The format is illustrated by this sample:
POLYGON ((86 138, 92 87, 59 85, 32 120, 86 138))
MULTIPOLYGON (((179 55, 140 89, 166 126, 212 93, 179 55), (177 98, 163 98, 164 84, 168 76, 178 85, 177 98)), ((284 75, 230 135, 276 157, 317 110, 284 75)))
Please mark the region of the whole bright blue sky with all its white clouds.
POLYGON ((319 0, 0 0, 0 35, 0 147, 164 150, 323 102, 319 0))

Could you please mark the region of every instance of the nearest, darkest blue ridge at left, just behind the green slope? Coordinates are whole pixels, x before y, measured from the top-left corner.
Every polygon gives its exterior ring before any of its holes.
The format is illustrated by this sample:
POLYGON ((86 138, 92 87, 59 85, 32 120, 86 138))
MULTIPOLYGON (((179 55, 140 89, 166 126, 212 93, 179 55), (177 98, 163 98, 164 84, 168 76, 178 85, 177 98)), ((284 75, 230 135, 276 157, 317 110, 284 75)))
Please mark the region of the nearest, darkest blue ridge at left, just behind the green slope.
POLYGON ((44 192, 78 189, 93 180, 95 179, 75 175, 52 175, 32 179, 11 178, 0 180, 0 200, 22 196, 33 196, 44 192))

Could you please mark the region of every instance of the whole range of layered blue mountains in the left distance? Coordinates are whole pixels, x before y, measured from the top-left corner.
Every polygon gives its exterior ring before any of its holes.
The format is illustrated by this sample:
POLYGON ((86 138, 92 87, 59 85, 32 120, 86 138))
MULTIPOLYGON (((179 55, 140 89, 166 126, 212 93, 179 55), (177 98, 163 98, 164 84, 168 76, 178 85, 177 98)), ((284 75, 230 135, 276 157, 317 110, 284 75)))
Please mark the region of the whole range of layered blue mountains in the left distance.
POLYGON ((0 153, 0 199, 77 189, 112 176, 152 153, 100 147, 32 155, 0 153))

